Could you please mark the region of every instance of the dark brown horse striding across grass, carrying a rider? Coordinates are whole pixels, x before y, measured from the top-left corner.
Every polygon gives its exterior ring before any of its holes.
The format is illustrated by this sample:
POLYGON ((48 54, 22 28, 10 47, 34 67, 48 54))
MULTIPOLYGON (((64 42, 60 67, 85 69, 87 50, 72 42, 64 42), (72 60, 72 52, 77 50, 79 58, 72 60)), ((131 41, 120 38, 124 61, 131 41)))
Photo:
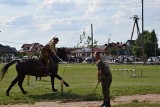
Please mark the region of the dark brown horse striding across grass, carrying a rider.
MULTIPOLYGON (((62 58, 62 60, 66 59, 66 55, 64 54, 64 49, 58 49, 58 53, 57 56, 62 58), (63 54, 62 54, 63 53, 63 54)), ((60 61, 58 58, 53 59, 55 62, 54 64, 52 64, 49 67, 49 72, 50 72, 50 77, 51 77, 51 83, 52 83, 52 91, 56 91, 54 89, 54 78, 58 78, 59 80, 61 80, 62 78, 57 74, 57 64, 60 61)), ((22 84, 24 81, 24 78, 26 75, 31 75, 31 76, 37 76, 37 77, 44 77, 45 75, 45 68, 44 68, 44 64, 41 61, 41 59, 31 59, 28 61, 19 61, 19 60, 13 60, 12 62, 6 64, 2 70, 1 70, 1 75, 0 75, 0 80, 3 79, 5 73, 7 72, 8 68, 13 65, 14 63, 16 63, 16 71, 17 71, 17 77, 12 81, 11 85, 8 87, 7 91, 6 91, 6 95, 9 96, 9 92, 12 89, 12 87, 18 82, 18 86, 21 89, 23 94, 28 93, 27 91, 24 90, 22 84)), ((63 82, 66 87, 68 87, 69 85, 64 81, 63 82)))

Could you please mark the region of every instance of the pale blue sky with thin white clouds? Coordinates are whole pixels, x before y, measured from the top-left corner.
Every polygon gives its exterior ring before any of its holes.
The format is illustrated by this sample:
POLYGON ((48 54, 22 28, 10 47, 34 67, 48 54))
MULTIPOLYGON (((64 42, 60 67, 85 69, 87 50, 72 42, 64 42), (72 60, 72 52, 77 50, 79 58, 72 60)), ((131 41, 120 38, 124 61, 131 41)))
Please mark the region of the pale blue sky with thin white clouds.
MULTIPOLYGON (((0 44, 21 48, 24 43, 45 45, 55 35, 58 47, 74 47, 86 35, 108 42, 131 38, 133 17, 140 18, 142 0, 0 0, 0 44)), ((160 44, 160 1, 144 0, 144 30, 155 30, 160 44)), ((137 38, 136 28, 133 39, 137 38)))

